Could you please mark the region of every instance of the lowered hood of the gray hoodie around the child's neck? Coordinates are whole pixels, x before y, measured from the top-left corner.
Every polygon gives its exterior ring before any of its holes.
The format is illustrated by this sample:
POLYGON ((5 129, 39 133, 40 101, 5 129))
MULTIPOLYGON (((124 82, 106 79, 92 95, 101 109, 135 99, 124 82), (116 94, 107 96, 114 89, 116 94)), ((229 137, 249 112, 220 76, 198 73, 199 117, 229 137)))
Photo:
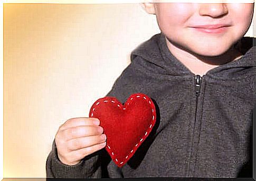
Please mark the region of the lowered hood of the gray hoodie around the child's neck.
MULTIPOLYGON (((235 45, 236 48, 244 55, 236 61, 232 61, 215 68, 212 68, 205 75, 209 75, 218 79, 226 79, 227 77, 236 79, 240 74, 252 74, 252 68, 255 65, 255 46, 253 46, 255 38, 243 37, 235 45)), ((255 45, 255 44, 254 44, 255 45)), ((162 68, 169 75, 185 76, 194 74, 178 59, 170 53, 165 35, 159 33, 151 37, 148 41, 140 44, 134 51, 131 52, 131 61, 135 58, 143 58, 158 68, 162 68)))

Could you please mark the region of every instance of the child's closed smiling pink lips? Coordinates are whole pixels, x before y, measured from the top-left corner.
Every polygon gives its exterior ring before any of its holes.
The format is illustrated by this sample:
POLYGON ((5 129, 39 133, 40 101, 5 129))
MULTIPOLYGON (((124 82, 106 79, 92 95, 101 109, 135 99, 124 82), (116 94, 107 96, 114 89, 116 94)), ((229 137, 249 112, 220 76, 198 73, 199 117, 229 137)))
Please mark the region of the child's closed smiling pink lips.
POLYGON ((216 24, 216 25, 199 25, 199 26, 191 26, 191 28, 195 29, 196 31, 209 33, 209 34, 220 34, 227 31, 227 29, 231 25, 226 24, 216 24))

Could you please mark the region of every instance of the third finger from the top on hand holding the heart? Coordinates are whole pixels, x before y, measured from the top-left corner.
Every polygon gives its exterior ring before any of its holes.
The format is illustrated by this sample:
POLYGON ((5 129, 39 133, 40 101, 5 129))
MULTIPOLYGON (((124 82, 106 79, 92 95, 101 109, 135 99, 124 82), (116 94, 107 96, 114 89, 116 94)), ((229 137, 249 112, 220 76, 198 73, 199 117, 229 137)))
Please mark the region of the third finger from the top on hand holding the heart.
POLYGON ((86 147, 90 147, 93 145, 98 145, 106 142, 106 135, 96 135, 96 136, 87 136, 81 138, 75 138, 68 141, 67 148, 69 151, 74 151, 86 147))

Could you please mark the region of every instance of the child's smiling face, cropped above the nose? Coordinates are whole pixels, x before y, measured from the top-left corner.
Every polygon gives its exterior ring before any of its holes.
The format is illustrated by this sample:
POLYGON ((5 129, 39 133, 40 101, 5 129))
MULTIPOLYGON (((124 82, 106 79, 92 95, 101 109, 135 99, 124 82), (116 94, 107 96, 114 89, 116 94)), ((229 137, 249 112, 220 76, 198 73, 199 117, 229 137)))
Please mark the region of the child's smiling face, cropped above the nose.
POLYGON ((252 3, 144 3, 148 13, 156 14, 160 30, 173 45, 203 56, 221 55, 243 37, 252 21, 253 6, 252 3), (198 27, 207 25, 216 26, 198 27))

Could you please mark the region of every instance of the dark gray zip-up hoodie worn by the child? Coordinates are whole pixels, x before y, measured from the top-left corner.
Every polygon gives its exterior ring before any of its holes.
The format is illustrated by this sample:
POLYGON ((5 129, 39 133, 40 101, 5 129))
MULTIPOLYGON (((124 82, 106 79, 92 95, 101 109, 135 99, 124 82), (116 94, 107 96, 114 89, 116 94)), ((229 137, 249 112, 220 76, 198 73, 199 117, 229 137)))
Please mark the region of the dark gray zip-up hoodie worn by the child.
POLYGON ((153 99, 156 124, 135 155, 121 168, 105 149, 64 165, 52 151, 46 177, 252 177, 252 114, 255 47, 242 38, 245 55, 193 74, 157 34, 131 53, 131 63, 107 96, 121 103, 134 93, 153 99))

